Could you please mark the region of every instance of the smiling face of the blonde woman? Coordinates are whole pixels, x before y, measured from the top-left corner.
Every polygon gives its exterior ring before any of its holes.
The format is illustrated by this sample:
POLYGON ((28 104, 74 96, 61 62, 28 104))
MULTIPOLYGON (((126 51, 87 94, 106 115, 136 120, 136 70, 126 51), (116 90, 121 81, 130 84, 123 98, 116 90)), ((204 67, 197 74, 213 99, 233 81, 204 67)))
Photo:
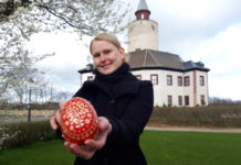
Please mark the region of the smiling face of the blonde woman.
POLYGON ((123 64, 125 57, 124 48, 117 48, 112 43, 94 41, 91 50, 94 65, 103 75, 112 74, 123 64))

